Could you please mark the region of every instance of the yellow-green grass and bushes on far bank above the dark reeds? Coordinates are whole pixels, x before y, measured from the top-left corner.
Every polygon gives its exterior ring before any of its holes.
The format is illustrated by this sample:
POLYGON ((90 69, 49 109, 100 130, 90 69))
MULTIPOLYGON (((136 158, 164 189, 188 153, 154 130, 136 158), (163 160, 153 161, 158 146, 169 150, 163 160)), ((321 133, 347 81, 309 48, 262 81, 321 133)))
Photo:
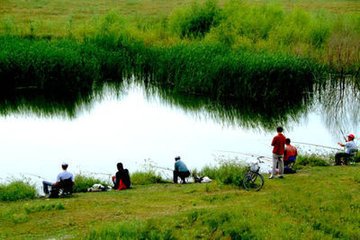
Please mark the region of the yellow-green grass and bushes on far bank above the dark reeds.
POLYGON ((282 52, 356 73, 359 9, 350 0, 5 1, 0 34, 76 41, 110 34, 162 47, 201 41, 282 52))

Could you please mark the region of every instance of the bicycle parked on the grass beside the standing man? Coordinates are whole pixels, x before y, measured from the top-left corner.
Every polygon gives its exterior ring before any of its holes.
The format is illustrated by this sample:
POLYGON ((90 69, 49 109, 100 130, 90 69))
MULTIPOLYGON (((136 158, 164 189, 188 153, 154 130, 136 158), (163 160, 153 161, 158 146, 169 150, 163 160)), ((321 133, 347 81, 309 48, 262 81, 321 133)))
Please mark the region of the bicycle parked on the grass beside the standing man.
POLYGON ((256 163, 251 163, 249 170, 244 175, 243 186, 247 191, 259 191, 264 186, 264 177, 259 173, 259 163, 262 163, 260 158, 262 156, 257 158, 256 163))

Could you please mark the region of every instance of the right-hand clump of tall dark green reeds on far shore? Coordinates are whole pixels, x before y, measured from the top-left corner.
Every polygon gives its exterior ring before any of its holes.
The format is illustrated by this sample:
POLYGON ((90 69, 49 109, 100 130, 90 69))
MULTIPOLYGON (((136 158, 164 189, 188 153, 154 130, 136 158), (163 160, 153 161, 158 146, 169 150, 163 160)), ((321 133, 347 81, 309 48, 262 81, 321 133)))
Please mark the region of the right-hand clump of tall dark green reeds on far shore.
POLYGON ((312 91, 314 76, 320 72, 311 60, 267 52, 234 52, 219 44, 180 44, 154 51, 154 60, 147 64, 155 84, 213 99, 293 104, 291 101, 298 102, 306 95, 302 93, 312 91))

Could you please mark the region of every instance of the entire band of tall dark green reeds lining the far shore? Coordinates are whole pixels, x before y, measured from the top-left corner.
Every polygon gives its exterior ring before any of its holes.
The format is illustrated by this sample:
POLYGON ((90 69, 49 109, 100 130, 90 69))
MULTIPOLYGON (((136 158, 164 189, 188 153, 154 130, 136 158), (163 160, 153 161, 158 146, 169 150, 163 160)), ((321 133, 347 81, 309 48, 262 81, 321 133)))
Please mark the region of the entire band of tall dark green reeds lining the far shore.
POLYGON ((296 88, 310 91, 318 70, 310 60, 233 52, 219 44, 148 48, 141 42, 107 36, 82 44, 2 38, 0 45, 4 49, 0 54, 2 89, 7 94, 36 88, 51 95, 86 95, 95 84, 109 79, 121 82, 133 73, 174 92, 283 103, 290 96, 299 100, 296 88))

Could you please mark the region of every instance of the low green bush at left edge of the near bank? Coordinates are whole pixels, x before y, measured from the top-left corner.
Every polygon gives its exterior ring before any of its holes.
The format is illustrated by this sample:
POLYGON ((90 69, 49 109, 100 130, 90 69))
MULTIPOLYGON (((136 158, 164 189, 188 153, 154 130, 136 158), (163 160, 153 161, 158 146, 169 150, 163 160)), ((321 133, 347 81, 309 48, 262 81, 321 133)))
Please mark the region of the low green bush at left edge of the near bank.
POLYGON ((0 185, 0 201, 17 201, 34 199, 37 196, 36 188, 20 180, 0 185))

